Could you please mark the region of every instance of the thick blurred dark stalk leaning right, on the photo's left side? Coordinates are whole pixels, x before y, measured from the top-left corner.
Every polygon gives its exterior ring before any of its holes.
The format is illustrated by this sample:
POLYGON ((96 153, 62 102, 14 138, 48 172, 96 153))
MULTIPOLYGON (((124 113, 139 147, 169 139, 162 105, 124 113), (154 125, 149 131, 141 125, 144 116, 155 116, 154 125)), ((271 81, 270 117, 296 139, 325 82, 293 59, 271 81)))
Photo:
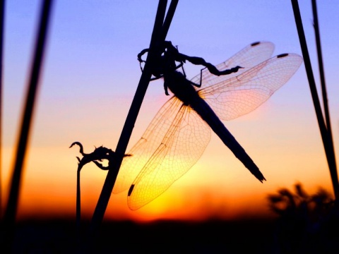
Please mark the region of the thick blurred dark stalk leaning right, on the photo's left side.
POLYGON ((25 108, 23 111, 20 126, 20 136, 18 138, 18 145, 16 148, 16 161, 14 164, 13 175, 11 178, 11 188, 8 197, 8 204, 4 215, 4 228, 7 238, 5 244, 7 245, 11 244, 11 242, 13 241, 13 233, 20 192, 20 181, 23 171, 23 162, 25 160, 25 152, 28 145, 32 114, 35 106, 35 98, 37 90, 39 88, 38 85, 40 79, 40 70, 42 67, 44 46, 47 39, 49 17, 51 11, 52 11, 52 0, 45 0, 42 4, 40 13, 40 23, 35 42, 35 54, 32 59, 30 79, 28 83, 28 93, 26 95, 25 108))

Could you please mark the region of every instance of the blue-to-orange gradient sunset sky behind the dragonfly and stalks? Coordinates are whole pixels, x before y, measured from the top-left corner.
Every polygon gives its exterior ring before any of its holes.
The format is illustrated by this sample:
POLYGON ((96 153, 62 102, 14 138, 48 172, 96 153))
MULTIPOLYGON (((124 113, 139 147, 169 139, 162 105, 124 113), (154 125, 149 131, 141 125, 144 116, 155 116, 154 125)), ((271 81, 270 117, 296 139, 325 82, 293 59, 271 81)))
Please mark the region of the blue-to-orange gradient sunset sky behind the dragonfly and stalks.
MULTIPOLYGON (((300 1, 316 82, 319 80, 311 1, 300 1)), ((55 1, 18 217, 75 217, 78 147, 115 150, 141 70, 136 55, 149 46, 157 1, 55 1)), ((319 25, 335 150, 339 143, 339 2, 319 1, 319 25)), ((7 1, 4 44, 3 200, 13 168, 40 1, 7 1)), ((290 1, 179 1, 167 40, 179 51, 218 64, 257 41, 276 54, 302 55, 290 1)), ((193 78, 200 67, 186 64, 193 78)), ((319 87, 320 92, 320 87, 319 87)), ((129 147, 141 138, 169 97, 161 80, 148 87, 129 147)), ((256 111, 225 122, 267 181, 260 183, 220 139, 164 194, 131 211, 127 192, 112 195, 107 219, 233 219, 267 214, 267 195, 300 182, 309 192, 331 179, 304 64, 256 111)), ((129 148, 127 149, 127 151, 129 148)), ((337 152, 338 154, 338 152, 337 152)), ((339 160, 338 156, 337 162, 339 160)), ((107 172, 81 171, 84 217, 91 217, 107 172)))

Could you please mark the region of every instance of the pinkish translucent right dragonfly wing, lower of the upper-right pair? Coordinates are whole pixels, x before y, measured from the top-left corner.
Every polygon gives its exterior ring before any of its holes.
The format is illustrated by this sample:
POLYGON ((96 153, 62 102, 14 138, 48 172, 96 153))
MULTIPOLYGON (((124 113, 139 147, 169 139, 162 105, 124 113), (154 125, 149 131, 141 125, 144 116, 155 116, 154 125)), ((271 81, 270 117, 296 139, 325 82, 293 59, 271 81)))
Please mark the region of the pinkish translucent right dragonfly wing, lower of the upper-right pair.
POLYGON ((203 88, 198 94, 206 99, 220 119, 235 119, 266 102, 292 77, 301 63, 302 57, 298 54, 280 54, 236 77, 203 88))

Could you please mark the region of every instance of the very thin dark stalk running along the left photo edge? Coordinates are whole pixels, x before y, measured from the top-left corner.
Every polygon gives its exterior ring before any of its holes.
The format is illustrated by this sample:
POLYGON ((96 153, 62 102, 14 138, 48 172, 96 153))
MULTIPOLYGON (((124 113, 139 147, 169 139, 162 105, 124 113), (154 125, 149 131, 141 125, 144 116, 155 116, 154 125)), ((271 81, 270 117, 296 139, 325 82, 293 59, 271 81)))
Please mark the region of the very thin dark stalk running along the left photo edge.
POLYGON ((5 0, 0 0, 0 222, 2 219, 2 73, 3 73, 3 52, 4 52, 4 22, 5 22, 5 0))

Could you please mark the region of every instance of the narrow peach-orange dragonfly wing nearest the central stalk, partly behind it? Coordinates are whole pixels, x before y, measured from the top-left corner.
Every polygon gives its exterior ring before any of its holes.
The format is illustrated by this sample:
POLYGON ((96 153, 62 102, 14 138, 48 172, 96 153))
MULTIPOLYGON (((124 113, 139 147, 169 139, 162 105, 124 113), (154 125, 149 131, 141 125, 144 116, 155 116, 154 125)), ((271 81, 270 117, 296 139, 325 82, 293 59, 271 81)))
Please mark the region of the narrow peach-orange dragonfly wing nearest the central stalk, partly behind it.
POLYGON ((131 186, 143 165, 165 137, 181 107, 182 102, 177 97, 172 97, 157 112, 141 139, 129 150, 132 156, 125 157, 122 161, 113 193, 120 193, 131 186))

